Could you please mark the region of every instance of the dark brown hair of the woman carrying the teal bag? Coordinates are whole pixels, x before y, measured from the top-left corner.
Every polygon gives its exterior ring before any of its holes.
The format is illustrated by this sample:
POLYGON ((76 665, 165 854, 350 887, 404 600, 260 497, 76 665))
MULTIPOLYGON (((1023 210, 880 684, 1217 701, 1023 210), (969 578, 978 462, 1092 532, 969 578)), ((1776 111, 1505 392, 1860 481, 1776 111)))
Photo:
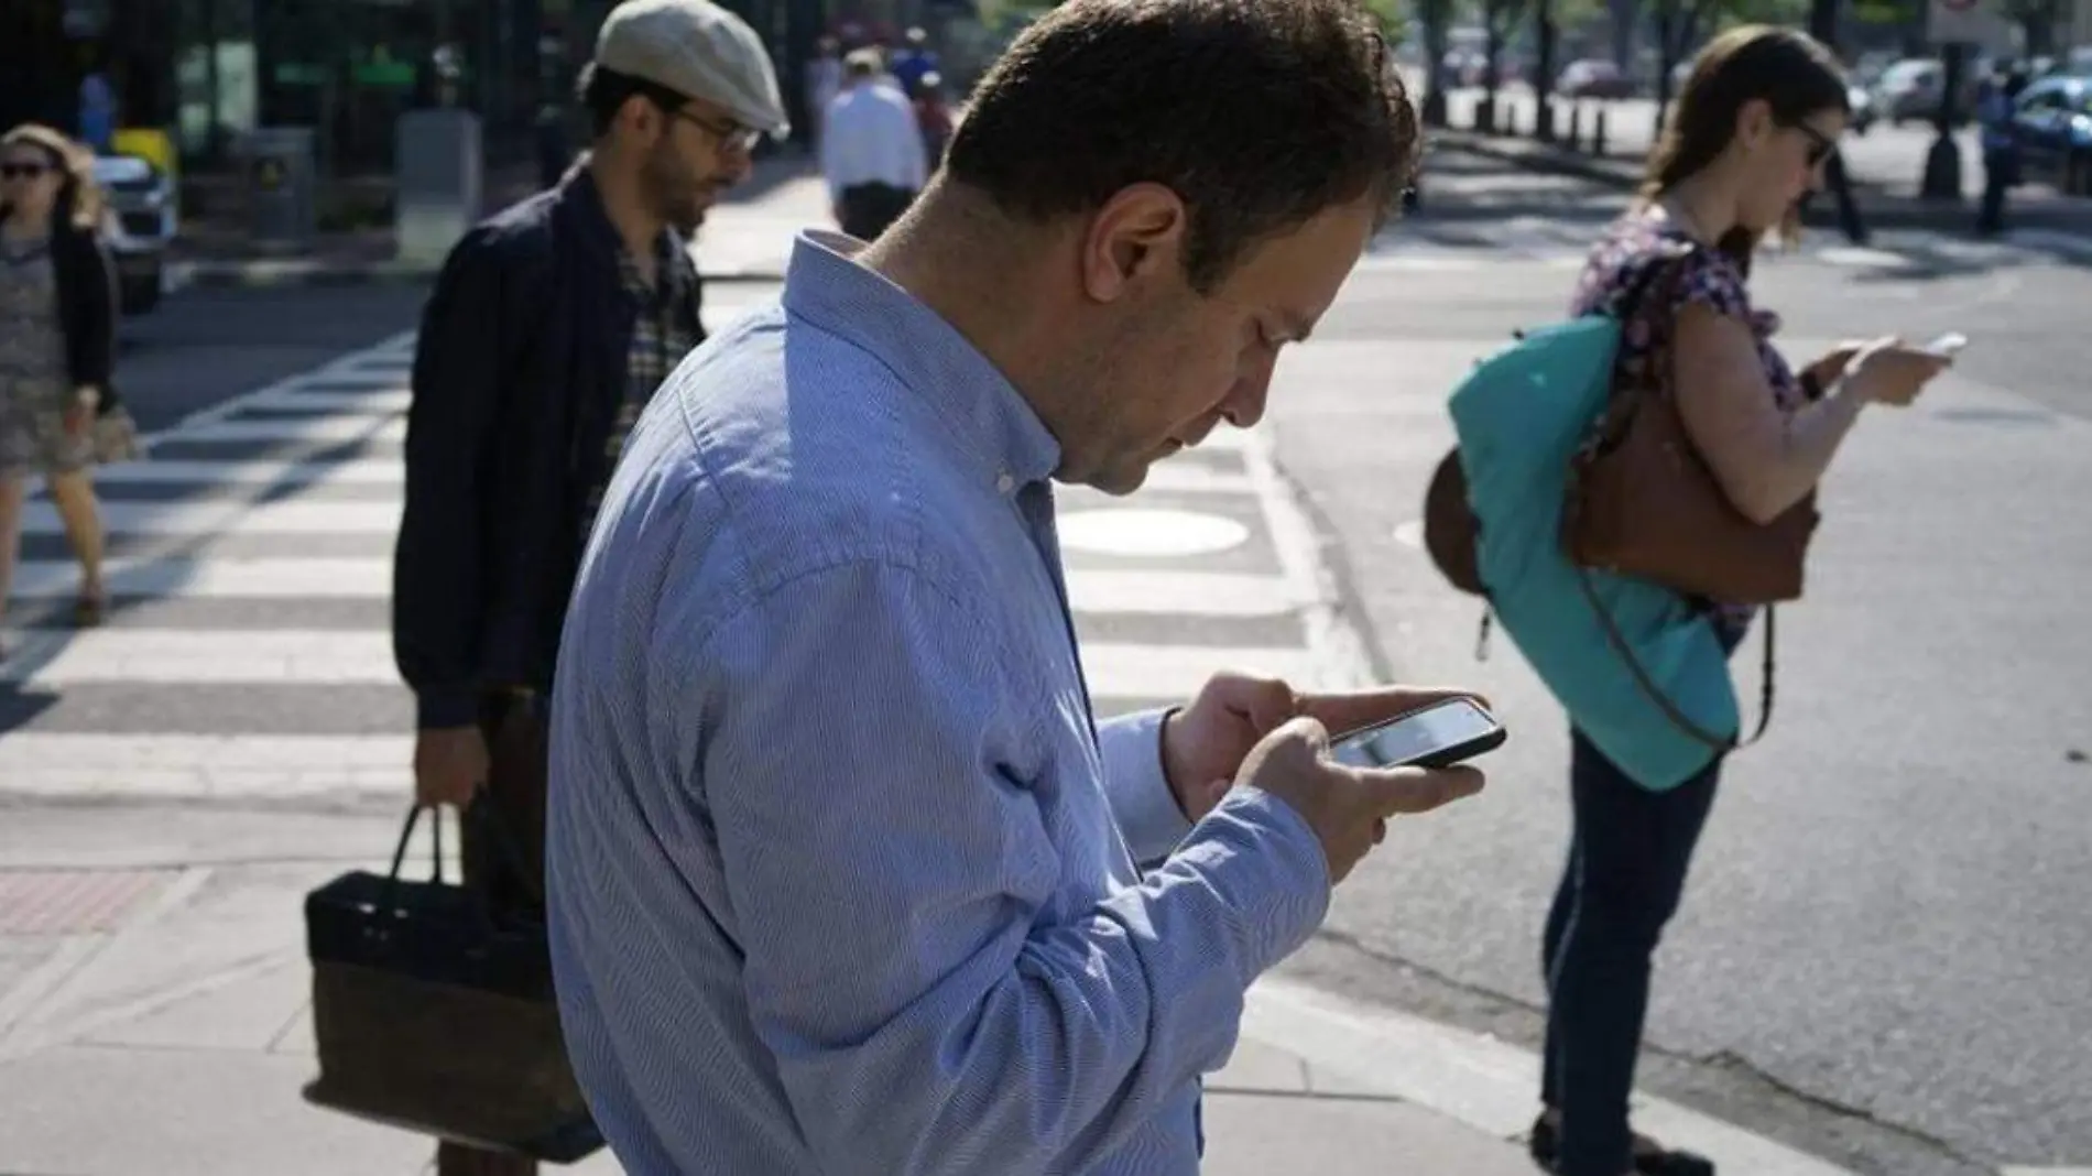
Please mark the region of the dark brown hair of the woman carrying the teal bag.
MULTIPOLYGON (((1713 163, 1736 136, 1736 115, 1759 100, 1780 126, 1801 126, 1824 111, 1851 113, 1845 73, 1822 42, 1772 25, 1728 29, 1692 59, 1692 73, 1672 105, 1663 136, 1648 151, 1642 201, 1661 197, 1713 163)), ((1799 211, 1780 230, 1793 239, 1799 211)), ((1732 228, 1720 249, 1749 272, 1757 239, 1749 228, 1732 228)))

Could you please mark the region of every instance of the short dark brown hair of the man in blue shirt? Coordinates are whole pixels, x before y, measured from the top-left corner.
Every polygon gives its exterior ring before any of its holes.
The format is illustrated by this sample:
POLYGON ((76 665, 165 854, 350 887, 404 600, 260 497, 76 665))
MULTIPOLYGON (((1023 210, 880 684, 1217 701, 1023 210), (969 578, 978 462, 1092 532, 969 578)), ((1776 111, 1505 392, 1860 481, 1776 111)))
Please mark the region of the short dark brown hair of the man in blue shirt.
POLYGON ((1211 291, 1259 241, 1416 169, 1416 113, 1356 0, 1069 0, 987 71, 946 169, 1052 220, 1130 184, 1190 213, 1186 280, 1211 291))

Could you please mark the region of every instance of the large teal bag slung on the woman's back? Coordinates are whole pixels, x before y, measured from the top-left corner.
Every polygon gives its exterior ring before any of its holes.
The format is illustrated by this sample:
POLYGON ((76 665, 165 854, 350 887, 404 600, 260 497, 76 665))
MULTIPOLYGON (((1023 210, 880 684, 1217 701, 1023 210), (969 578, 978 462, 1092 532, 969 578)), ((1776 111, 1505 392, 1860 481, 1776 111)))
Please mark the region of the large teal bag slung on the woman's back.
MULTIPOLYGON (((1665 791, 1734 747, 1743 720, 1728 651, 1701 609, 1563 555, 1571 458, 1611 400, 1619 339, 1619 318, 1588 314, 1521 333, 1475 364, 1452 393, 1460 439, 1427 494, 1425 542, 1448 580, 1487 596, 1598 751, 1665 791)), ((1766 640, 1770 659, 1770 628, 1766 640)))

